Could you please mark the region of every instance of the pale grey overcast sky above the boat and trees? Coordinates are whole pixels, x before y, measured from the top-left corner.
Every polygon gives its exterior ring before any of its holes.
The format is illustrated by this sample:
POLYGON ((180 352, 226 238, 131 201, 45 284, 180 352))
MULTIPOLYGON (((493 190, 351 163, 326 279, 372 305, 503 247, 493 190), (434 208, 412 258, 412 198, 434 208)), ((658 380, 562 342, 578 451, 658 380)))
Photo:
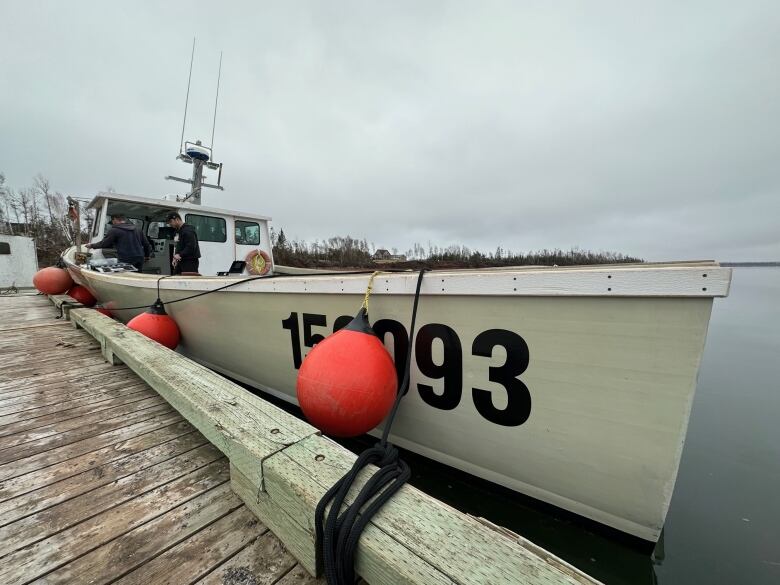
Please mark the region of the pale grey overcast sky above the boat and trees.
POLYGON ((780 2, 0 0, 0 171, 288 236, 780 258, 780 2))

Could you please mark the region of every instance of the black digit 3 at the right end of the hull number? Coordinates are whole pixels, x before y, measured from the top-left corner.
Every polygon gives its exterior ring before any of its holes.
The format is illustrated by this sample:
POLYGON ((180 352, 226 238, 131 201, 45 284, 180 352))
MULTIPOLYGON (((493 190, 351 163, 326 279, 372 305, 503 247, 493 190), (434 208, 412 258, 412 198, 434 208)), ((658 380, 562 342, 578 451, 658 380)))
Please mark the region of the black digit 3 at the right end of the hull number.
POLYGON ((474 340, 471 353, 482 357, 493 357, 493 348, 500 345, 506 350, 506 362, 502 366, 491 366, 488 379, 506 389, 506 408, 496 408, 490 390, 472 388, 474 406, 479 414, 492 423, 505 427, 516 427, 528 420, 531 414, 531 393, 517 376, 528 368, 528 344, 517 333, 506 329, 488 329, 474 340))

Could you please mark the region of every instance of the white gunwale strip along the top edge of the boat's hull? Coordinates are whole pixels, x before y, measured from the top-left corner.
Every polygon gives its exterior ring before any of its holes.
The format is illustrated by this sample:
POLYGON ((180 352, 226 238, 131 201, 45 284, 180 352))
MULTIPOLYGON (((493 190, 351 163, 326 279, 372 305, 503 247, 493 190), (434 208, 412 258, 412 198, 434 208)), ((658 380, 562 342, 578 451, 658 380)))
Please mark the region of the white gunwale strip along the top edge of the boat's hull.
MULTIPOLYGON (((283 267, 278 267, 280 272, 283 267)), ((90 278, 111 280, 123 286, 157 286, 158 276, 137 273, 103 274, 88 271, 90 278)), ((363 294, 369 274, 289 275, 257 278, 224 292, 292 294, 363 294)), ((196 276, 166 278, 161 290, 206 291, 244 277, 196 276)), ((442 270, 426 274, 424 295, 466 296, 585 296, 585 297, 696 297, 728 295, 731 269, 717 265, 607 265, 591 268, 515 268, 442 270)), ((414 294, 417 272, 381 272, 375 279, 375 295, 414 294)))

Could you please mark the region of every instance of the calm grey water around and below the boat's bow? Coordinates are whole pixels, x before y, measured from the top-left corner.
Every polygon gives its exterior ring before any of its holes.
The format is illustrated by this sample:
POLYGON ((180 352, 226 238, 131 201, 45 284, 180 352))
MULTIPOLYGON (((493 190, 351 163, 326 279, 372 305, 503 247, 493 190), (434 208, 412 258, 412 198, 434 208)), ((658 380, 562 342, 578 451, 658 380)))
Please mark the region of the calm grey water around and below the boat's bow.
POLYGON ((780 268, 735 268, 716 299, 688 438, 655 551, 407 454, 413 483, 608 585, 780 583, 780 268))

